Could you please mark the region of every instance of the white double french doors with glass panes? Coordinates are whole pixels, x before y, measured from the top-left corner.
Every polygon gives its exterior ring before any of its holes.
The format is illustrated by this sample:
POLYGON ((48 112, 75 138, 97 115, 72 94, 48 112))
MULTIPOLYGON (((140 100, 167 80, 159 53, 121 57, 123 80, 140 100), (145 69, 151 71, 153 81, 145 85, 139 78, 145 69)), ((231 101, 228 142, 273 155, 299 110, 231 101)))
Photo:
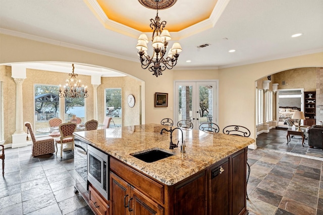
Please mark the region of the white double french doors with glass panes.
POLYGON ((218 81, 175 82, 175 125, 180 120, 190 120, 193 129, 198 129, 203 122, 217 123, 217 88, 218 81))

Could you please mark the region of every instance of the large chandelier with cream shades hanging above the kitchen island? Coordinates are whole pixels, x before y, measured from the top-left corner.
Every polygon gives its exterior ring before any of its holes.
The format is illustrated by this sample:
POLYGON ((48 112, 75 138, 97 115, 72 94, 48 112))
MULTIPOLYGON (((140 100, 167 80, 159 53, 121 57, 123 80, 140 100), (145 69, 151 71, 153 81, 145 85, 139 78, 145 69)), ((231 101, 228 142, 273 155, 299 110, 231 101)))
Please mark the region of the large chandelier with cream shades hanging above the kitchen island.
POLYGON ((153 30, 152 32, 152 47, 153 53, 150 57, 147 54, 147 43, 148 38, 146 34, 141 34, 138 38, 138 44, 136 48, 139 50, 139 60, 141 62, 141 67, 143 69, 148 68, 156 77, 163 75, 161 74, 166 68, 172 69, 179 57, 179 52, 182 51, 182 47, 178 42, 175 42, 166 54, 166 48, 168 47, 168 41, 171 40, 171 35, 168 30, 164 30, 166 26, 166 21, 160 22, 160 18, 158 17, 158 2, 161 0, 153 0, 156 3, 156 17, 155 19, 150 19, 150 28, 153 30), (152 65, 151 65, 152 64, 152 65))

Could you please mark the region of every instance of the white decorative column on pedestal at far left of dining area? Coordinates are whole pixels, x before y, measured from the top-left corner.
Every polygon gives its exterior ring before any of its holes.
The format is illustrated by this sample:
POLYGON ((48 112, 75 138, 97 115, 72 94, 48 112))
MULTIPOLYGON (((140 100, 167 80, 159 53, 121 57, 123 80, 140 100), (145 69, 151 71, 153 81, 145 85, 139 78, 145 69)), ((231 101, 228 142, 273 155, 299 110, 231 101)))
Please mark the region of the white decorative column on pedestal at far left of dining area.
POLYGON ((23 129, 22 83, 25 79, 13 78, 16 83, 16 131, 12 135, 12 148, 27 146, 26 133, 23 129))

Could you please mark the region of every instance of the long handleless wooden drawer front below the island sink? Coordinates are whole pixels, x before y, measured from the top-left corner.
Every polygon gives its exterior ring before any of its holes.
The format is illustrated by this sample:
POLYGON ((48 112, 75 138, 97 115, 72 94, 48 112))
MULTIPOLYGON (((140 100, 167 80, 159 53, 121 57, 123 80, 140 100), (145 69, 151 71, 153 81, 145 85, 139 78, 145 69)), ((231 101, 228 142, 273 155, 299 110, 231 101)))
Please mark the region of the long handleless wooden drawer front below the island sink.
POLYGON ((165 186, 163 184, 152 180, 112 157, 110 157, 110 170, 156 202, 164 204, 165 186))

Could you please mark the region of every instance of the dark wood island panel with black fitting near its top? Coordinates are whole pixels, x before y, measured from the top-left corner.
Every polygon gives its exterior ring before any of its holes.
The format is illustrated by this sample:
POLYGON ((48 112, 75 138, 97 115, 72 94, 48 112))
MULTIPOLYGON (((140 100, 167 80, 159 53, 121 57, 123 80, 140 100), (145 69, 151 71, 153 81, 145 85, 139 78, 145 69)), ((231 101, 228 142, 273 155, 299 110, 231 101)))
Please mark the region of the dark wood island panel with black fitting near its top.
POLYGON ((210 169, 209 214, 230 214, 229 175, 229 159, 210 169))

